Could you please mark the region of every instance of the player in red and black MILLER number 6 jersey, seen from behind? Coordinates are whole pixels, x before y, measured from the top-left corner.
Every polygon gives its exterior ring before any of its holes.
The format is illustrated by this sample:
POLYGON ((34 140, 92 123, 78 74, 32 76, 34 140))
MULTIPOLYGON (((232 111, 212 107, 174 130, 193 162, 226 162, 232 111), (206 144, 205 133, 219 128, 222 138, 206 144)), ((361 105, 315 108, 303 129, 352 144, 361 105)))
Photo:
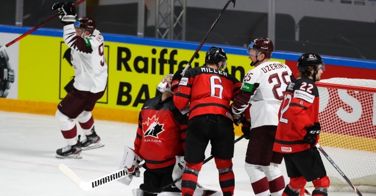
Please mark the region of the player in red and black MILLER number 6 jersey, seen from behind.
POLYGON ((212 46, 205 56, 205 66, 178 70, 171 89, 178 109, 190 103, 185 140, 186 168, 182 177, 182 195, 193 196, 205 149, 211 142, 211 154, 219 173, 223 196, 232 196, 235 177, 232 171, 234 128, 230 100, 241 87, 240 81, 227 72, 227 57, 222 48, 212 46))

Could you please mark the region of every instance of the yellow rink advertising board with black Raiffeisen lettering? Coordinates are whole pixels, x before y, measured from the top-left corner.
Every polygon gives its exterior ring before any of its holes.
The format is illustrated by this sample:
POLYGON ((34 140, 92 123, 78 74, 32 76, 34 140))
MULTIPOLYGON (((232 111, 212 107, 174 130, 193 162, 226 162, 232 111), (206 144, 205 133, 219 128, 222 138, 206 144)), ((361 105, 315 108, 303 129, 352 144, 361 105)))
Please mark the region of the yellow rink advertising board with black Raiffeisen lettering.
MULTIPOLYGON (((195 51, 173 47, 178 42, 166 43, 110 42, 105 36, 108 86, 93 111, 96 118, 137 123, 141 106, 159 93, 156 85, 163 76, 183 69, 195 51)), ((203 46, 191 67, 204 64, 210 46, 203 46)), ((227 72, 241 80, 251 69, 250 60, 247 55, 226 53, 227 72)), ((42 103, 37 104, 37 110, 54 114, 56 105, 70 90, 73 76, 70 48, 62 37, 29 35, 20 41, 18 100, 42 103)))

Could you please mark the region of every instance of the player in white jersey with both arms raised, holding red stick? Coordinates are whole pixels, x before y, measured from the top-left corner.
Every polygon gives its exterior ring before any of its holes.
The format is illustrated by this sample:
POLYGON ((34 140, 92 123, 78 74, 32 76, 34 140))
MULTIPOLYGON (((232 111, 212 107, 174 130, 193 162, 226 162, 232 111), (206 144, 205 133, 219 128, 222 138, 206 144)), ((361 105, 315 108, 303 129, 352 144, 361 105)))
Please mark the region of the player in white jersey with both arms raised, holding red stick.
POLYGON ((64 42, 71 49, 71 63, 75 72, 73 89, 61 100, 55 114, 61 133, 68 143, 64 148, 56 150, 56 157, 80 159, 81 150, 104 146, 94 130, 91 114, 107 85, 108 67, 103 36, 96 30, 91 18, 76 20, 76 9, 71 1, 55 3, 51 9, 60 13, 59 18, 64 24, 64 42), (77 126, 73 121, 75 118, 86 135, 82 141, 77 136, 77 126))

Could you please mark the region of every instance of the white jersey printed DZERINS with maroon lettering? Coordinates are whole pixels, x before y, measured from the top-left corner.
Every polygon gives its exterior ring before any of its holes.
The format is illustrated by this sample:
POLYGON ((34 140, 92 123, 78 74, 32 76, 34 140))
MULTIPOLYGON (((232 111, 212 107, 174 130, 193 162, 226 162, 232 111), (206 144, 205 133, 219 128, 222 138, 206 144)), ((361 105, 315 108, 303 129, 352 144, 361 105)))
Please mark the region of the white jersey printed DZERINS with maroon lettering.
POLYGON ((250 117, 252 128, 278 124, 278 111, 284 91, 291 83, 290 68, 277 61, 259 64, 244 76, 245 87, 257 87, 250 97, 250 117))

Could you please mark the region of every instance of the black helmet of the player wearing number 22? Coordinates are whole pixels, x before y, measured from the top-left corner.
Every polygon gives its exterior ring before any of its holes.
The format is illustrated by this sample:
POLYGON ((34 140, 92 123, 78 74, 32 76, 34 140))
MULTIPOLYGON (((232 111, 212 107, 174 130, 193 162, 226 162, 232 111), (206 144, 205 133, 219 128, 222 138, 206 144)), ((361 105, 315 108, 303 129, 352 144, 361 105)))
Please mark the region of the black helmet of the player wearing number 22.
POLYGON ((298 59, 298 69, 301 73, 309 73, 309 66, 313 66, 316 70, 318 70, 318 65, 322 65, 323 70, 325 70, 325 64, 323 59, 320 55, 315 53, 305 53, 302 54, 298 59))

